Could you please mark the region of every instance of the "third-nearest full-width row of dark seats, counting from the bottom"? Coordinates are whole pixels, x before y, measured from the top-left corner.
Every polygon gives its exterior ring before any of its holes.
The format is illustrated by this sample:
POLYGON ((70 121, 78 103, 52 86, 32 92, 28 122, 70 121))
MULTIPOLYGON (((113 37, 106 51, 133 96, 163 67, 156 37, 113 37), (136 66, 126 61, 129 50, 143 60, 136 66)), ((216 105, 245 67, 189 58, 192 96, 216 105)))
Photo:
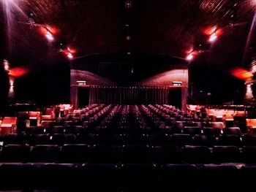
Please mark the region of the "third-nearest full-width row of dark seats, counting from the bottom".
POLYGON ((2 145, 8 144, 90 144, 90 145, 236 145, 256 146, 256 136, 195 135, 189 134, 8 134, 1 138, 2 145))

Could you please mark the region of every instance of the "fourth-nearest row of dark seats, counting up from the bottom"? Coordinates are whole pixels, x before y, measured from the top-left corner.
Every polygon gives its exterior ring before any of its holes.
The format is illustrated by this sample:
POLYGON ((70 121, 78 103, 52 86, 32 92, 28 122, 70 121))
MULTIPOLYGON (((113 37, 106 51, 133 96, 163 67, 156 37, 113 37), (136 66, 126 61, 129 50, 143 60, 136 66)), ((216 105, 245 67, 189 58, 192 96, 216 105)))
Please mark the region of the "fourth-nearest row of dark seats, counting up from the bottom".
MULTIPOLYGON (((86 124, 84 122, 83 124, 86 124)), ((106 127, 105 125, 90 127, 87 125, 75 126, 70 125, 66 122, 65 126, 29 126, 25 129, 28 134, 61 134, 61 133, 72 133, 79 134, 81 132, 92 132, 92 133, 102 133, 102 132, 113 132, 113 133, 132 133, 132 132, 144 132, 144 133, 157 133, 164 132, 169 134, 237 134, 241 135, 241 130, 238 127, 228 127, 228 128, 216 128, 214 126, 184 126, 185 122, 177 121, 174 126, 162 126, 162 127, 141 127, 136 123, 127 123, 127 125, 118 125, 114 127, 106 127), (67 125, 68 124, 68 125, 67 125)), ((194 122, 194 125, 198 125, 201 122, 194 122)), ((217 123, 217 122, 213 122, 217 123)))

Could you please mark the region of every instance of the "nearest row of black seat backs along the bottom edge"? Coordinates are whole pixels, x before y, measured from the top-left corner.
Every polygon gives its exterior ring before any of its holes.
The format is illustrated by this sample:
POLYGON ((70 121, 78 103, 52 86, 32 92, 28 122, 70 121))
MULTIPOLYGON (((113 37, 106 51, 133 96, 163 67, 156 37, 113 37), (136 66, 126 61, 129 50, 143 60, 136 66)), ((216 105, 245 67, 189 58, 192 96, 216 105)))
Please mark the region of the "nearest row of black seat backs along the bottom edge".
POLYGON ((256 166, 1 164, 1 190, 254 191, 256 166), (26 177, 24 177, 26 175, 26 177), (249 176, 250 175, 250 176, 249 176))

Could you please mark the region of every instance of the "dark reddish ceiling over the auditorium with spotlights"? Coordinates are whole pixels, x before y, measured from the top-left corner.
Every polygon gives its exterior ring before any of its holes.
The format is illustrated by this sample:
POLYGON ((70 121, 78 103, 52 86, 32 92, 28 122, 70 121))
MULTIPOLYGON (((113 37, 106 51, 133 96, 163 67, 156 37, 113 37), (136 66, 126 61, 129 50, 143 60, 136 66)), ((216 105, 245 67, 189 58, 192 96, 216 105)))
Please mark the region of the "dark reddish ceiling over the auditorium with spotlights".
MULTIPOLYGON (((1 44, 0 50, 5 49, 10 60, 24 61, 16 65, 28 66, 58 62, 60 42, 75 47, 78 57, 131 51, 184 58, 190 47, 206 43, 203 30, 214 25, 223 34, 212 47, 213 58, 223 58, 217 63, 241 64, 255 9, 249 0, 137 0, 132 9, 124 9, 124 0, 23 0, 19 7, 25 15, 33 12, 36 23, 58 28, 56 41, 49 44, 37 28, 17 23, 26 22, 26 16, 13 12, 11 41, 1 44), (237 23, 241 25, 231 28, 237 23), (237 61, 230 55, 237 55, 237 61)), ((1 36, 7 31, 2 28, 1 36)))

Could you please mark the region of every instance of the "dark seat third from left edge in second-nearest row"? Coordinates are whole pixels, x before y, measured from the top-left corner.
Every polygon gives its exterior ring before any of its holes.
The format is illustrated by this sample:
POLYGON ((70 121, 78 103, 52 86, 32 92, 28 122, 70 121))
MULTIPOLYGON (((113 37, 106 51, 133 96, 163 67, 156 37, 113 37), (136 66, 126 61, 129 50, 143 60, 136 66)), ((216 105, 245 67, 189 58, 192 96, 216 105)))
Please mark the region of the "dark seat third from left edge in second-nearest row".
POLYGON ((91 150, 89 145, 63 145, 60 161, 62 163, 86 163, 90 158, 91 150))

